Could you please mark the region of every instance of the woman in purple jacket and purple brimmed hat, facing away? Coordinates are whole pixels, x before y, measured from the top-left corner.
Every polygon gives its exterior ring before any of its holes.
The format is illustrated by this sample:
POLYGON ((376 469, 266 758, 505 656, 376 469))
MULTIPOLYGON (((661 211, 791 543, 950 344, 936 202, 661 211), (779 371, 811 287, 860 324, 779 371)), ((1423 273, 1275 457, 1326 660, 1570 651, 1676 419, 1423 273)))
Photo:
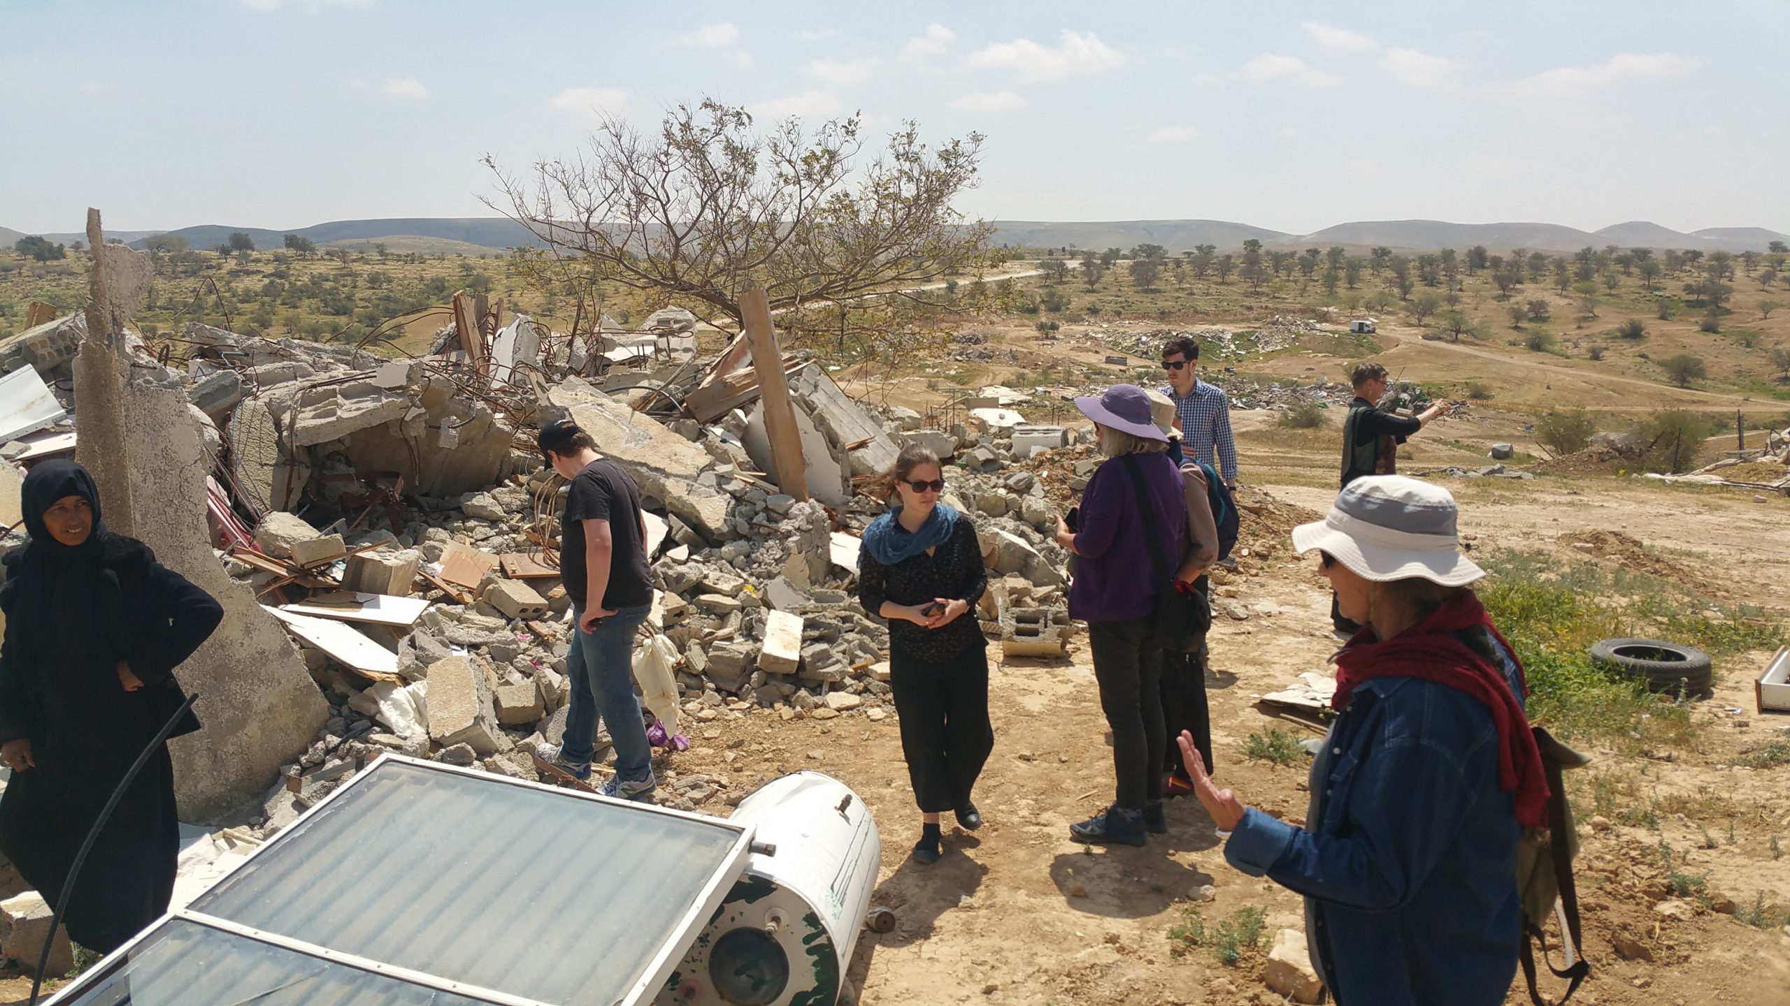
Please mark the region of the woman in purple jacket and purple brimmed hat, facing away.
POLYGON ((1180 566, 1187 535, 1181 473, 1169 460, 1169 439, 1151 422, 1149 396, 1113 385, 1099 397, 1078 397, 1110 458, 1081 492, 1076 528, 1060 517, 1056 542, 1076 553, 1069 618, 1088 623, 1101 709, 1113 732, 1117 793, 1112 807, 1070 825, 1078 841, 1144 845, 1146 832, 1169 831, 1162 811, 1162 648, 1155 610, 1162 587, 1146 544, 1144 521, 1156 526, 1162 567, 1180 566), (1142 476, 1144 498, 1137 490, 1142 476))

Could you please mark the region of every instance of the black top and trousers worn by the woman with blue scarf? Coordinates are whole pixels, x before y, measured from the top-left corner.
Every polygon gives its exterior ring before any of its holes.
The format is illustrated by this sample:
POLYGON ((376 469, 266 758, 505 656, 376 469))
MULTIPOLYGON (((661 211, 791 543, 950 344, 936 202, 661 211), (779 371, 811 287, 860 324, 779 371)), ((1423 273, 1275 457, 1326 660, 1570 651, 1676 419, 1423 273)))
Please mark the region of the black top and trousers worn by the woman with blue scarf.
POLYGON ((970 789, 995 746, 988 721, 988 639, 976 623, 976 601, 988 589, 976 526, 958 517, 933 555, 882 566, 859 551, 857 600, 872 618, 882 601, 924 605, 961 598, 970 609, 940 628, 890 619, 890 687, 900 716, 908 779, 922 813, 970 807, 970 789))

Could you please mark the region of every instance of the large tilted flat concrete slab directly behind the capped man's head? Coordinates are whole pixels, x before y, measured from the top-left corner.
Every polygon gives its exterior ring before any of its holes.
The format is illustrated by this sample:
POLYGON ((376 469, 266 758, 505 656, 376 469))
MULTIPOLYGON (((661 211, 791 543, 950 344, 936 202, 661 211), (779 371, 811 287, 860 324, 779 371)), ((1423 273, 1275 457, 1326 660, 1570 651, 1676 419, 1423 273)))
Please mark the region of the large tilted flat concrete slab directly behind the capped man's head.
POLYGON ((569 415, 596 440, 598 451, 639 483, 641 492, 662 499, 671 514, 705 539, 725 537, 732 498, 698 482, 714 467, 707 451, 578 378, 560 381, 541 405, 542 422, 569 415))

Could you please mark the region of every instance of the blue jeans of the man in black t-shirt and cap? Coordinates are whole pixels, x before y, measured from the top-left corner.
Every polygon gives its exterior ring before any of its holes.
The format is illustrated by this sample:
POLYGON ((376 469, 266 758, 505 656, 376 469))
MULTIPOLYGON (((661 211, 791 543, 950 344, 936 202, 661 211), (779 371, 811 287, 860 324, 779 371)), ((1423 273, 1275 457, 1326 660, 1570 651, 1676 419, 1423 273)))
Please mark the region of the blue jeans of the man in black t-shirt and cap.
POLYGON ((634 630, 646 621, 650 605, 618 609, 584 632, 573 623, 566 675, 571 678, 571 712, 566 714, 566 739, 560 757, 569 763, 591 761, 596 750, 596 720, 609 721, 616 743, 616 777, 646 779, 653 750, 646 743, 641 700, 634 696, 634 630))

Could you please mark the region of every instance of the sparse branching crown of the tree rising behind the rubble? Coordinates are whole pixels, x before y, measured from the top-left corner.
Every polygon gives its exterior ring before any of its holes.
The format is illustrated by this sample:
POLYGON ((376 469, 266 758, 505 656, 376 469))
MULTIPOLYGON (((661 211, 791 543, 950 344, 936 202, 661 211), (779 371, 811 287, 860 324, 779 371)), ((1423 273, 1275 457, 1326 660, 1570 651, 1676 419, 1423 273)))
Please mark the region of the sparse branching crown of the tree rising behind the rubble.
POLYGON ((999 299, 990 283, 949 304, 927 290, 999 258, 993 227, 952 209, 976 184, 981 143, 972 132, 929 147, 906 122, 856 163, 859 116, 757 131, 745 109, 705 98, 668 111, 653 134, 605 120, 582 156, 542 161, 526 181, 487 156, 501 192, 487 204, 596 281, 703 306, 736 328, 739 297, 763 286, 791 342, 827 335, 841 349, 895 351, 908 333, 999 299))

